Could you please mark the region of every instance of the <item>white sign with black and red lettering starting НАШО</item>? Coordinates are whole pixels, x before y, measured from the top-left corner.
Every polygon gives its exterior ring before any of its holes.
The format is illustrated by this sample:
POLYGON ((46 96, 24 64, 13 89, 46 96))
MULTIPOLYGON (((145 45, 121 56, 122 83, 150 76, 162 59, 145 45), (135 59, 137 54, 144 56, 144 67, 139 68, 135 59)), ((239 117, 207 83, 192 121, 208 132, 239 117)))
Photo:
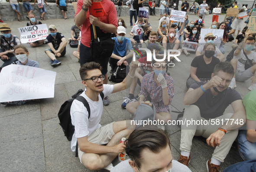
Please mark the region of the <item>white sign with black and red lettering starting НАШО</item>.
POLYGON ((23 44, 46 39, 48 36, 48 28, 46 24, 29 25, 18 28, 20 33, 20 41, 23 44))

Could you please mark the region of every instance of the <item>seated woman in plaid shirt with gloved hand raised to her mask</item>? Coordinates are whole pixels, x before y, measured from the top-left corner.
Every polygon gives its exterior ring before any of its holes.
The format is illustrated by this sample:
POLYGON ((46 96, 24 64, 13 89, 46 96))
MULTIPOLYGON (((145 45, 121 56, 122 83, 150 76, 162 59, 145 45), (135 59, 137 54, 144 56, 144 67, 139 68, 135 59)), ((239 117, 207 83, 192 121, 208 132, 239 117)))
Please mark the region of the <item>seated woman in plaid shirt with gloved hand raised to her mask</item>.
MULTIPOLYGON (((149 100, 156 106, 156 120, 163 120, 165 124, 171 120, 169 106, 174 96, 174 83, 172 77, 165 73, 167 59, 160 63, 153 60, 154 72, 143 76, 139 102, 131 102, 126 105, 126 109, 134 115, 137 107, 149 100)), ((161 126, 164 129, 164 125, 161 126)))

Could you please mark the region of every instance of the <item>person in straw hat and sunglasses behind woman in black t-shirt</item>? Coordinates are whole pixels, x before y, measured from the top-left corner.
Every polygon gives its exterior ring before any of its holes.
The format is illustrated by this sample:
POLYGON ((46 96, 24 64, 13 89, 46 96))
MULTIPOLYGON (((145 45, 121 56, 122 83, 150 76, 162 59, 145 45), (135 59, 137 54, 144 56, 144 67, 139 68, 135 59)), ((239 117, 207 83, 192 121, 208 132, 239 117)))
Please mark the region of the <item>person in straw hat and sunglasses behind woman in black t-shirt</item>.
MULTIPOLYGON (((207 35, 204 38, 204 41, 206 43, 214 43, 214 39, 216 37, 213 35, 213 33, 207 33, 207 35)), ((195 56, 200 56, 204 54, 204 45, 200 45, 195 53, 195 56)), ((225 58, 224 55, 220 52, 220 49, 216 47, 214 56, 217 57, 218 59, 220 59, 220 61, 223 61, 223 59, 225 58)))

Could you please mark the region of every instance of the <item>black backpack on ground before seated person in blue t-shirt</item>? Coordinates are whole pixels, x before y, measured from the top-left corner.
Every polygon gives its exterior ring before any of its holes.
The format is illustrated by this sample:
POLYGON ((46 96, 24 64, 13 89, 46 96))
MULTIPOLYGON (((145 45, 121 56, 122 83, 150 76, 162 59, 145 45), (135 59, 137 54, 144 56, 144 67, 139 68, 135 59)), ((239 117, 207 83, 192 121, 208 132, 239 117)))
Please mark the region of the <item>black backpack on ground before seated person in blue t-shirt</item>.
POLYGON ((123 64, 121 66, 116 66, 112 75, 108 77, 108 80, 113 81, 114 83, 121 83, 126 77, 126 67, 128 67, 127 70, 129 70, 129 66, 123 64))

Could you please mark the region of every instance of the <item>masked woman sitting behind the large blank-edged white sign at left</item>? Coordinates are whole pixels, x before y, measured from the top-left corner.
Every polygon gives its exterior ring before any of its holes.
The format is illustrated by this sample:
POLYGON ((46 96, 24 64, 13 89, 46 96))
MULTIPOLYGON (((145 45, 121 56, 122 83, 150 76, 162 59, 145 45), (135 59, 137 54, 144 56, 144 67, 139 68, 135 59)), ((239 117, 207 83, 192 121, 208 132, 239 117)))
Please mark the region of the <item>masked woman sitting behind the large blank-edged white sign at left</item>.
MULTIPOLYGON (((25 66, 32 66, 32 67, 39 67, 39 64, 37 61, 32 61, 28 59, 29 51, 28 49, 20 44, 16 45, 14 47, 14 54, 16 55, 16 58, 18 61, 13 62, 13 64, 19 64, 19 65, 25 65, 25 66)), ((3 105, 23 105, 28 101, 32 100, 21 100, 21 101, 13 101, 13 102, 1 102, 3 105)))

